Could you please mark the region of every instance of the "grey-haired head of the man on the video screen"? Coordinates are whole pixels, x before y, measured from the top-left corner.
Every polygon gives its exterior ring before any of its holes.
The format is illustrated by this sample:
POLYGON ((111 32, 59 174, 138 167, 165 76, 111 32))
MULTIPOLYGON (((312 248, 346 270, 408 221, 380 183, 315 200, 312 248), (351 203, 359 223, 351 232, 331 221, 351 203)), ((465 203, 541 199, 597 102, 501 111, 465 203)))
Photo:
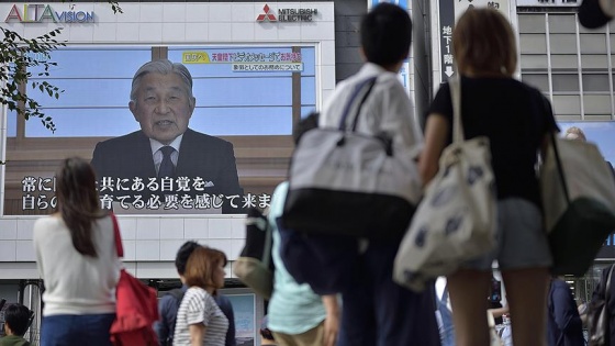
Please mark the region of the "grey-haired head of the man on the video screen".
POLYGON ((182 64, 154 60, 135 72, 128 108, 147 137, 171 143, 188 129, 194 105, 192 76, 182 64))

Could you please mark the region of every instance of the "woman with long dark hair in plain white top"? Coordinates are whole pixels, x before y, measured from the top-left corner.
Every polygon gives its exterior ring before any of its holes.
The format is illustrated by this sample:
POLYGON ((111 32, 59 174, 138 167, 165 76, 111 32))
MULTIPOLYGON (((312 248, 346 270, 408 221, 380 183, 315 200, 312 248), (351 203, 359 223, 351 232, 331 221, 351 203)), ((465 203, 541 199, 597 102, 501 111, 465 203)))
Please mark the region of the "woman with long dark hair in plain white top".
POLYGON ((113 222, 88 161, 65 159, 56 186, 58 212, 38 219, 33 234, 45 282, 41 345, 111 345, 121 266, 113 222))

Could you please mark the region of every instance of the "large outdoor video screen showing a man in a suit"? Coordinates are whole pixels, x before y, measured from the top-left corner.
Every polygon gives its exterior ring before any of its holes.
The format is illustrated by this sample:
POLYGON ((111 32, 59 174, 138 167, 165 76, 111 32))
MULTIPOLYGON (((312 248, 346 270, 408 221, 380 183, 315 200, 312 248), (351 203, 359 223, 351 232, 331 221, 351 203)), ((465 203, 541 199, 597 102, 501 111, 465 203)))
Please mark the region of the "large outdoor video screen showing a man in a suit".
POLYGON ((92 163, 101 203, 118 213, 267 207, 293 124, 316 107, 314 46, 69 46, 38 58, 57 64, 45 80, 64 92, 25 90, 57 130, 5 114, 5 215, 53 212, 69 156, 92 163), (158 59, 180 66, 167 72, 158 59))

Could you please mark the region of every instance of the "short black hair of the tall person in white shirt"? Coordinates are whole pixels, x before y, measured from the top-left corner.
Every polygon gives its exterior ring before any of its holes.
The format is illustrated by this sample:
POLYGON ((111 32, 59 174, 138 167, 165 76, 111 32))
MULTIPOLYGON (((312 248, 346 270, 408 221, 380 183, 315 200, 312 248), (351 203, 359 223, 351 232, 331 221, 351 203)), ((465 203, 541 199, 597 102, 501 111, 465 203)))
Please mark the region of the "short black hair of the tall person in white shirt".
POLYGON ((412 42, 412 21, 396 4, 377 4, 361 20, 361 47, 368 62, 389 66, 405 59, 412 42))

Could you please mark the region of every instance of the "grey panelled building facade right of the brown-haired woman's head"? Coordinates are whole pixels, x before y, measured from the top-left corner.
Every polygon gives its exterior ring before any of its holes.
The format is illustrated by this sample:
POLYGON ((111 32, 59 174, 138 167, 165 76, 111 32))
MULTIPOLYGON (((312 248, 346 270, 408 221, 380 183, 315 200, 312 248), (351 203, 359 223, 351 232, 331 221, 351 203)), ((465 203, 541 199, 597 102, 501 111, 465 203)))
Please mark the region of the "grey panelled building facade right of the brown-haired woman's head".
POLYGON ((613 23, 579 24, 574 9, 518 8, 522 80, 551 99, 558 120, 613 120, 613 23))

